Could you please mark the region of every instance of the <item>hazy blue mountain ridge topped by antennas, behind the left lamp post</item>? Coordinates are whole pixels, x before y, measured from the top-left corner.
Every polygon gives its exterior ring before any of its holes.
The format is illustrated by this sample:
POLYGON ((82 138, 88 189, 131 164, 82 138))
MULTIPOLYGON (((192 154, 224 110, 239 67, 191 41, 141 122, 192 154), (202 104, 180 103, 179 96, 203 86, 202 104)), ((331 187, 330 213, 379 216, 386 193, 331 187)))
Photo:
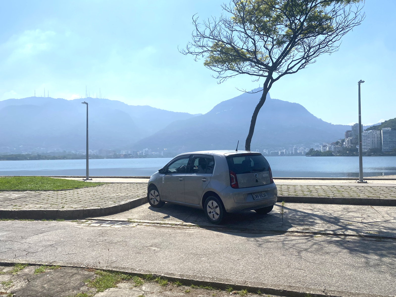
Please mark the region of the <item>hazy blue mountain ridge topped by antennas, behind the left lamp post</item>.
POLYGON ((89 103, 89 141, 93 149, 131 148, 139 139, 175 120, 194 117, 109 99, 8 99, 0 101, 0 148, 84 149, 86 106, 82 101, 89 103))

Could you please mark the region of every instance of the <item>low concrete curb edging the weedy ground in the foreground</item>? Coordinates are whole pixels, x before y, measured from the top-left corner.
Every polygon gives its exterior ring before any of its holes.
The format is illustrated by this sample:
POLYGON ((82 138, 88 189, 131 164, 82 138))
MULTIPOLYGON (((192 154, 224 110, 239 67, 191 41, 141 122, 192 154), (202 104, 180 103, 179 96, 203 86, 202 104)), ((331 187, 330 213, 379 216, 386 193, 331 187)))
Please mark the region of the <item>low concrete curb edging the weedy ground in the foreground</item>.
MULTIPOLYGON (((12 265, 16 262, 8 261, 6 259, 0 258, 0 265, 12 265)), ((19 263, 19 262, 18 262, 19 263)), ((26 262, 25 262, 26 263, 26 262)), ((65 263, 62 261, 53 262, 42 262, 42 261, 29 261, 30 265, 59 265, 62 267, 76 267, 76 268, 93 268, 101 270, 112 270, 118 272, 128 272, 133 273, 138 276, 144 277, 145 274, 153 274, 154 276, 160 276, 166 278, 171 282, 179 281, 184 285, 190 286, 194 285, 210 285, 218 289, 227 289, 227 287, 232 287, 234 290, 239 291, 242 289, 247 289, 250 292, 261 291, 263 294, 285 296, 285 297, 306 297, 310 294, 311 297, 385 297, 385 295, 368 294, 368 293, 355 293, 346 291, 336 291, 327 289, 317 289, 312 287, 298 287, 298 286, 281 286, 276 284, 267 284, 261 282, 251 282, 251 281, 238 281, 231 280, 228 278, 212 278, 205 276, 195 276, 189 274, 174 274, 174 273, 158 273, 154 271, 144 271, 135 270, 125 267, 90 267, 89 265, 84 265, 83 263, 65 263)))

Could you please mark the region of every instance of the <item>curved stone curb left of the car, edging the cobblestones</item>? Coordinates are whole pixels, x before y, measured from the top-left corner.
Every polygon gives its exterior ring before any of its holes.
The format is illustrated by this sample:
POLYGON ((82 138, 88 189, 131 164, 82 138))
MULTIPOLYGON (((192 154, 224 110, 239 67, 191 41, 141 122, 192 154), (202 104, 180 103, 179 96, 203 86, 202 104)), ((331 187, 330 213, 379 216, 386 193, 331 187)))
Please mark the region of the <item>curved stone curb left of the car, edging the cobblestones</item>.
POLYGON ((141 206, 147 203, 147 197, 135 198, 108 207, 91 207, 84 209, 0 209, 2 219, 82 219, 102 217, 141 206))

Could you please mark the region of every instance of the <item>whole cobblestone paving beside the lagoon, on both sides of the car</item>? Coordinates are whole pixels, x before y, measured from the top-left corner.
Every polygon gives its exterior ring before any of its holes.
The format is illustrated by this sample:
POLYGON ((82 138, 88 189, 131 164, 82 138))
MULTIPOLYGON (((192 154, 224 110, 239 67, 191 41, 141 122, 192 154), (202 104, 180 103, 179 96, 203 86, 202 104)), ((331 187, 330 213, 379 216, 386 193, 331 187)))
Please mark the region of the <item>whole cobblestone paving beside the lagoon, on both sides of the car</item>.
MULTIPOLYGON (((396 199, 396 187, 277 185, 279 196, 396 199)), ((112 183, 63 191, 0 191, 0 209, 81 209, 107 207, 146 195, 147 183, 112 183)))

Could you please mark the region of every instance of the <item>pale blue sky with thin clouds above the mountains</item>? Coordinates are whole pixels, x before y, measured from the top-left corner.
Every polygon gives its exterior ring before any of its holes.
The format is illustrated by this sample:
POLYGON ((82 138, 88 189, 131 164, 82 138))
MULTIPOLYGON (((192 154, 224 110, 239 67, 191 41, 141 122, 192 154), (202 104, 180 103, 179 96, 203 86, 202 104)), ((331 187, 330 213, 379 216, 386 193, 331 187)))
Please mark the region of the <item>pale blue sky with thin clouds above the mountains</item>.
MULTIPOLYGON (((7 1, 0 12, 0 100, 74 99, 101 93, 131 105, 206 113, 260 82, 240 76, 223 84, 179 53, 191 17, 218 16, 223 1, 7 1)), ((272 86, 272 98, 297 102, 333 124, 396 117, 396 1, 366 0, 366 19, 323 55, 272 86)), ((265 112, 265 105, 261 109, 265 112)))

